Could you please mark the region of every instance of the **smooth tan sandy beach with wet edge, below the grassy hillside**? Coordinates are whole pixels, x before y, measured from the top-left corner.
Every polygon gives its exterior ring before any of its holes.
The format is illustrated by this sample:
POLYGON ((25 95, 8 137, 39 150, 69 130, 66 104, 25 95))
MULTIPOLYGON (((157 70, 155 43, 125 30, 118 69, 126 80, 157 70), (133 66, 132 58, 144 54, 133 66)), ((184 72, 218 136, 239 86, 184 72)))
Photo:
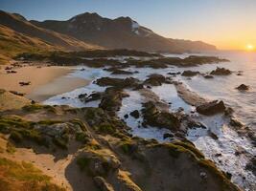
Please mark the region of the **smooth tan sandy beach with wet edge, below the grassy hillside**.
POLYGON ((50 96, 80 88, 88 83, 87 80, 68 74, 76 70, 74 67, 60 66, 25 66, 14 68, 15 74, 7 74, 0 70, 0 89, 16 91, 25 97, 41 102, 50 96), (31 82, 28 86, 20 86, 19 82, 31 82))

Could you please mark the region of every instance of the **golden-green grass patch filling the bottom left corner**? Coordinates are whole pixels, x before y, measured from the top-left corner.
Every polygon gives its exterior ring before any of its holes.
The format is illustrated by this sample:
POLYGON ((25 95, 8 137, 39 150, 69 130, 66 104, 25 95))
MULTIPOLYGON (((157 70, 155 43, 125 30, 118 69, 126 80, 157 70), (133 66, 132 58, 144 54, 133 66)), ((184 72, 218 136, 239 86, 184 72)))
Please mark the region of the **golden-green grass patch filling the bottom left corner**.
POLYGON ((28 162, 0 158, 0 190, 64 191, 28 162))

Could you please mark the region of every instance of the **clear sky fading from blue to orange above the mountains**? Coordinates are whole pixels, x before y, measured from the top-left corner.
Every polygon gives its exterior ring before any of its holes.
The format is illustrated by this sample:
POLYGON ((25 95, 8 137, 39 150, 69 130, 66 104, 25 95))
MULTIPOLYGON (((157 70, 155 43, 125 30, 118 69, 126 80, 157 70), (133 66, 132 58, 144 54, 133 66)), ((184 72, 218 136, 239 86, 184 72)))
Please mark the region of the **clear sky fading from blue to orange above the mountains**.
POLYGON ((0 10, 40 21, 86 11, 129 16, 165 37, 202 40, 222 50, 256 48, 256 0, 0 0, 0 10))

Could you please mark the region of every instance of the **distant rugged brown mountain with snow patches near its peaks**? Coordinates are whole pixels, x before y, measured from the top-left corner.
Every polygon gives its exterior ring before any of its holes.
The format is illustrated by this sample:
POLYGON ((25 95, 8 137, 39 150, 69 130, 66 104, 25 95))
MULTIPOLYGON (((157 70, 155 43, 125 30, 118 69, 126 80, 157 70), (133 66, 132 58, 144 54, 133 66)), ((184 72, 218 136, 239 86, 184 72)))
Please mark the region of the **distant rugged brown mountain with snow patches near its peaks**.
POLYGON ((147 52, 201 52, 216 47, 199 41, 168 39, 140 26, 129 17, 109 19, 97 13, 82 13, 66 21, 31 21, 37 27, 64 33, 107 49, 134 49, 147 52))

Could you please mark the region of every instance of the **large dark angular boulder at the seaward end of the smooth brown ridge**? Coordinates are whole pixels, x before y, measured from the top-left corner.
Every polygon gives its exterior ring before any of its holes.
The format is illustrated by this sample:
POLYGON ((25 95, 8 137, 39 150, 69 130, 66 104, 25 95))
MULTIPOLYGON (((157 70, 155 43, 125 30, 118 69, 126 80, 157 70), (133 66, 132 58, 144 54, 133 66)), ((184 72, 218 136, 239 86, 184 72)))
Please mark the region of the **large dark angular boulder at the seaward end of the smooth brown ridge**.
POLYGON ((204 103, 197 107, 197 112, 202 115, 211 116, 225 111, 225 105, 223 101, 214 100, 208 103, 204 103))

